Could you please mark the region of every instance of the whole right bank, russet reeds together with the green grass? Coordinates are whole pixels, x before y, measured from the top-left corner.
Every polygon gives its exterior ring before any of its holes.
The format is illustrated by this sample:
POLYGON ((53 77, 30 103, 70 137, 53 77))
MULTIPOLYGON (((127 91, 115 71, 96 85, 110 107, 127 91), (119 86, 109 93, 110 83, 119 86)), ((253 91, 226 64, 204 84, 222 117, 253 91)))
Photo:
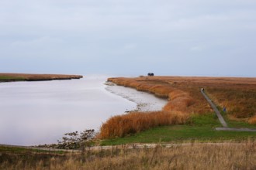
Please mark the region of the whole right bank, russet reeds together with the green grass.
POLYGON ((214 131, 214 128, 221 125, 200 93, 200 88, 204 87, 220 110, 227 107, 227 112, 223 115, 230 127, 256 128, 251 121, 256 114, 254 78, 155 76, 111 78, 109 81, 154 93, 158 97, 168 98, 169 102, 158 112, 135 112, 109 118, 102 124, 100 136, 111 139, 102 141, 102 145, 157 142, 160 139, 211 141, 255 137, 255 132, 214 131), (144 131, 147 129, 150 130, 144 131), (140 134, 136 134, 137 132, 140 134), (116 138, 127 134, 134 135, 116 138))

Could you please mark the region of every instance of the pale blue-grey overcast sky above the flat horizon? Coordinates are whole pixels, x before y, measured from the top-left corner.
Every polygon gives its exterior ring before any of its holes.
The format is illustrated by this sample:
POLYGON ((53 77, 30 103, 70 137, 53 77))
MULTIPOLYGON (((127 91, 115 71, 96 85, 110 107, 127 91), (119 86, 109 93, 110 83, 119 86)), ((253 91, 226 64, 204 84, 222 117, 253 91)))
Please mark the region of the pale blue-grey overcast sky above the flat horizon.
POLYGON ((0 72, 256 76, 255 0, 0 0, 0 72))

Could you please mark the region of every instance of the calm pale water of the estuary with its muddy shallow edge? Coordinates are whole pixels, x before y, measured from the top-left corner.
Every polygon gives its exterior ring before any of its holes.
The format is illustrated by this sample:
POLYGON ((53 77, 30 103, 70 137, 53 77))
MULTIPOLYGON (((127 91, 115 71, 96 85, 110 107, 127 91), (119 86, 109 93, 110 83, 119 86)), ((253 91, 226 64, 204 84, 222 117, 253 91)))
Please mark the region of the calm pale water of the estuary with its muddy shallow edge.
MULTIPOLYGON (((99 131, 109 117, 141 107, 140 100, 160 100, 162 104, 153 110, 166 103, 151 94, 132 93, 130 88, 108 87, 106 79, 85 76, 81 80, 0 83, 0 144, 57 143, 67 132, 99 131)), ((152 110, 147 104, 144 109, 152 110)))

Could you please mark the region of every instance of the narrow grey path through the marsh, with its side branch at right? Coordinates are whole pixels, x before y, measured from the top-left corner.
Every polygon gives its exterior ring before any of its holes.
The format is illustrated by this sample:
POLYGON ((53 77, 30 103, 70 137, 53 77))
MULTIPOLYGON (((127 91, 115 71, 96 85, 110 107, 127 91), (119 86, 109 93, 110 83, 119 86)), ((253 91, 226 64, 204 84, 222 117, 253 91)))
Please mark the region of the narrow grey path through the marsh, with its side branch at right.
POLYGON ((251 128, 228 128, 227 122, 224 120, 223 116, 220 114, 220 111, 217 109, 216 105, 213 104, 212 100, 209 99, 209 97, 206 95, 204 90, 201 90, 201 93, 213 108, 214 112, 216 113, 220 121, 220 124, 223 125, 223 128, 215 128, 216 131, 256 131, 256 129, 251 129, 251 128))

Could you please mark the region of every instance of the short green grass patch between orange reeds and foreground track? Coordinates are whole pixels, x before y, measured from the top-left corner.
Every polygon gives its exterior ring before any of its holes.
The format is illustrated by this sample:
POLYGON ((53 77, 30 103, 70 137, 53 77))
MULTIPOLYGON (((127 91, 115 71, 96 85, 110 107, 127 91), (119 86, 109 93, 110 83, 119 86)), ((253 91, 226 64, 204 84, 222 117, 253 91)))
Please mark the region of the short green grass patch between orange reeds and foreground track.
MULTIPOLYGON (((230 127, 255 128, 255 126, 237 121, 228 121, 230 127), (231 126, 232 125, 232 126, 231 126)), ((194 115, 187 124, 152 128, 124 138, 112 138, 101 141, 101 145, 125 145, 130 143, 181 143, 181 142, 217 142, 255 139, 256 132, 216 131, 221 127, 216 114, 194 115)))

